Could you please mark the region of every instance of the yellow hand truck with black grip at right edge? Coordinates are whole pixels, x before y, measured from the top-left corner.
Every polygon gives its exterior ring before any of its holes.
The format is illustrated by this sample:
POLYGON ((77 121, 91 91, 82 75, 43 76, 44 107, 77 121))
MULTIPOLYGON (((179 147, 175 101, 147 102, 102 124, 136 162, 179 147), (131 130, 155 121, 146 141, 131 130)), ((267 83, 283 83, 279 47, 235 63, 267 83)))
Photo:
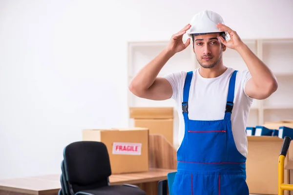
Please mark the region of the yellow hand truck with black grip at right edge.
POLYGON ((284 183, 284 161, 290 146, 291 138, 284 137, 278 163, 278 195, 284 195, 284 190, 293 190, 293 184, 284 183))

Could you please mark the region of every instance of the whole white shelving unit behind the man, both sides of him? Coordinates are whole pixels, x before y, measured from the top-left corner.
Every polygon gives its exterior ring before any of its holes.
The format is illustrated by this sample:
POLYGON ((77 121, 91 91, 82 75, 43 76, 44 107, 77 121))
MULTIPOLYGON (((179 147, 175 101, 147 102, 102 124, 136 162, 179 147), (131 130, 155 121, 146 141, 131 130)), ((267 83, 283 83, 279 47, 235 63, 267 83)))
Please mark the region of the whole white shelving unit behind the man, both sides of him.
MULTIPOLYGON (((278 90, 269 98, 254 100, 247 126, 262 125, 267 121, 293 119, 293 39, 244 39, 251 51, 263 60, 278 80, 278 90)), ((168 44, 166 41, 128 42, 128 84, 138 71, 154 59, 168 44)), ((237 51, 227 48, 224 64, 236 70, 247 66, 237 51)), ((171 58, 159 76, 199 67, 192 44, 171 58)), ((128 90, 128 89, 127 89, 128 90)), ((177 136, 178 116, 173 100, 152 101, 138 98, 128 90, 128 107, 174 107, 174 136, 177 136)), ((132 121, 129 121, 132 124, 132 121)), ((177 138, 174 138, 177 141, 177 138)))

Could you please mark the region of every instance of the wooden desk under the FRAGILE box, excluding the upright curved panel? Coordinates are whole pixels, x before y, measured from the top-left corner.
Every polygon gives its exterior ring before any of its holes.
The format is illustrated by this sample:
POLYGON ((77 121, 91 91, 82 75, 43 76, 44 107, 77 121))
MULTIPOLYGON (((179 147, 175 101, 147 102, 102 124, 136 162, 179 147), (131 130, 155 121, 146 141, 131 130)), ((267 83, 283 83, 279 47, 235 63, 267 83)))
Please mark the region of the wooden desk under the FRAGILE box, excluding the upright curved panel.
MULTIPOLYGON (((157 195, 158 181, 167 178, 173 169, 150 169, 148 172, 112 175, 111 185, 138 185, 147 195, 157 195)), ((34 176, 0 180, 0 195, 57 195, 61 188, 60 175, 34 176)))

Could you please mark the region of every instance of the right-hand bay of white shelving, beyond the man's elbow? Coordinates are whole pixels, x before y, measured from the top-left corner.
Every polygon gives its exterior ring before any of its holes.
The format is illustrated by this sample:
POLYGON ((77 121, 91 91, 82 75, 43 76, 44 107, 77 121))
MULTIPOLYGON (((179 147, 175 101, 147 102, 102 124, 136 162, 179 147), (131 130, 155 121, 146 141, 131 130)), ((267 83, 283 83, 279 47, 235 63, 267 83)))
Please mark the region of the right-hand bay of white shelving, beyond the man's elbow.
POLYGON ((278 80, 278 90, 261 101, 263 121, 293 119, 293 39, 264 39, 262 59, 278 80))

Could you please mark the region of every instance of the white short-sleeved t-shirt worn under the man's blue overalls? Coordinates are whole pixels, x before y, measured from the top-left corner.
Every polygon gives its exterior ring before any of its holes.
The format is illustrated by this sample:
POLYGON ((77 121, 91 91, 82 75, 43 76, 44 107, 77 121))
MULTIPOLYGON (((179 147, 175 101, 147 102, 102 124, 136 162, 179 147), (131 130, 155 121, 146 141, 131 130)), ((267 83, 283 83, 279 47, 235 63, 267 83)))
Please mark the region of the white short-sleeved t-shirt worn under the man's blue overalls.
MULTIPOLYGON (((191 120, 224 119, 230 77, 234 69, 228 68, 216 78, 203 78, 199 68, 193 71, 189 90, 188 117, 191 120), (191 103, 190 103, 191 102, 191 103)), ((179 116, 178 141, 184 137, 184 117, 182 114, 183 89, 187 72, 171 73, 166 78, 173 89, 173 98, 179 116)), ((246 82, 251 78, 248 70, 238 71, 235 81, 234 105, 231 115, 232 134, 238 151, 247 156, 246 124, 253 99, 244 91, 246 82)))

